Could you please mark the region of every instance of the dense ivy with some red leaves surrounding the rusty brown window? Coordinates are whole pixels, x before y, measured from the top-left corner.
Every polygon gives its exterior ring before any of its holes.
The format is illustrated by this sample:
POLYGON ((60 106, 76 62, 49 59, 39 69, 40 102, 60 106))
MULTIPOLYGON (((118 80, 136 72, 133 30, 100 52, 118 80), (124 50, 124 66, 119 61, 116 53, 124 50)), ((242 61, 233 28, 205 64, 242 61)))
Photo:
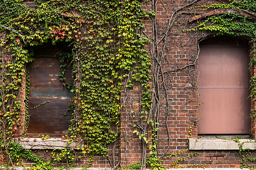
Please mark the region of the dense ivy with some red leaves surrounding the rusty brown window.
MULTIPOLYGON (((6 32, 6 38, 1 40, 6 52, 1 65, 1 69, 5 69, 1 75, 1 86, 5 86, 1 88, 1 146, 9 151, 10 163, 22 157, 37 163, 35 169, 51 169, 50 162, 42 162, 31 151, 9 142, 18 136, 16 130, 20 126, 20 101, 16 101, 16 98, 22 77, 28 73, 25 67, 34 60, 32 49, 68 41, 73 46, 73 53, 59 53, 60 79, 65 80, 66 68, 72 66, 73 75, 76 75, 74 83, 80 85, 75 87, 64 83, 76 94, 71 103, 71 136, 67 139, 69 142, 85 141, 86 145, 80 148, 84 154, 107 156, 106 146, 118 141, 119 137, 120 94, 123 78, 126 77, 122 71, 127 73, 136 65, 132 79, 143 84, 143 108, 150 108, 148 74, 151 64, 143 49, 148 40, 142 38, 140 33, 143 28, 141 20, 146 15, 141 2, 69 0, 62 3, 57 0, 36 0, 35 4, 35 8, 29 8, 23 1, 5 0, 0 3, 3 9, 0 24, 5 26, 1 27, 1 31, 9 31, 6 32)), ((27 96, 28 76, 26 83, 27 96)), ((31 109, 28 108, 27 97, 25 103, 27 127, 27 111, 31 109)), ((54 161, 66 159, 65 155, 69 155, 67 150, 52 154, 54 161)), ((69 156, 67 161, 71 165, 73 156, 69 156)))

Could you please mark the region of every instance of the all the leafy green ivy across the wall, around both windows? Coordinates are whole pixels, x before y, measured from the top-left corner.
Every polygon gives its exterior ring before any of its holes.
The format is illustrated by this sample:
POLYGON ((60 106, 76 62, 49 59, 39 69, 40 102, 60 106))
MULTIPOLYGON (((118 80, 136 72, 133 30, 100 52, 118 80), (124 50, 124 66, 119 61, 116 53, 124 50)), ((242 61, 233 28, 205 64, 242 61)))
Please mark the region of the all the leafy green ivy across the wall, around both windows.
MULTIPOLYGON (((23 0, 3 0, 0 2, 1 37, 1 83, 0 83, 0 144, 1 150, 10 155, 9 165, 24 158, 36 163, 34 169, 51 169, 52 162, 43 162, 31 151, 11 142, 18 136, 20 126, 19 88, 22 78, 28 72, 26 65, 34 60, 33 48, 44 44, 56 45, 67 42, 72 52, 60 52, 60 79, 75 94, 72 98, 73 118, 69 127, 69 142, 84 142, 79 148, 82 154, 108 156, 107 146, 117 143, 120 135, 120 95, 122 87, 133 88, 139 84, 141 105, 138 120, 134 120, 134 134, 148 145, 150 136, 153 154, 144 160, 151 168, 163 169, 162 160, 156 155, 158 122, 152 119, 150 72, 151 61, 147 50, 149 42, 142 37, 142 19, 154 18, 154 11, 143 11, 139 0, 35 0, 34 8, 26 7, 23 0), (66 84, 64 73, 72 67, 74 84, 66 84), (127 81, 126 81, 127 80, 127 81), (138 121, 143 129, 137 128, 138 121), (149 127, 150 126, 150 127, 149 127), (152 128, 150 133, 150 128, 152 128)), ((195 8, 232 9, 234 12, 208 16, 191 31, 208 31, 217 35, 233 37, 246 36, 255 41, 255 22, 247 15, 255 15, 255 1, 234 1, 216 3, 195 8)), ((67 44, 66 44, 67 45, 67 44)), ((255 63, 255 52, 250 66, 255 63)), ((28 70, 29 71, 29 70, 28 70)), ((250 80, 250 97, 256 94, 256 78, 250 80)), ((26 82, 26 97, 29 77, 26 82)), ((26 103, 26 127, 29 124, 28 99, 26 103)), ((254 114, 252 114, 254 115, 254 114)), ((26 132, 25 127, 25 132, 26 132)), ((191 133, 191 131, 189 132, 191 133)), ((177 154, 179 155, 179 154, 177 154)), ((196 154, 189 155, 196 156, 196 154)), ((189 158, 190 158, 189 157, 189 158)), ((52 153, 53 162, 75 161, 74 152, 60 150, 52 153)), ((174 165, 185 159, 177 160, 174 165)), ((252 160, 254 161, 254 160, 252 160)), ((129 168, 141 168, 137 163, 129 168)))

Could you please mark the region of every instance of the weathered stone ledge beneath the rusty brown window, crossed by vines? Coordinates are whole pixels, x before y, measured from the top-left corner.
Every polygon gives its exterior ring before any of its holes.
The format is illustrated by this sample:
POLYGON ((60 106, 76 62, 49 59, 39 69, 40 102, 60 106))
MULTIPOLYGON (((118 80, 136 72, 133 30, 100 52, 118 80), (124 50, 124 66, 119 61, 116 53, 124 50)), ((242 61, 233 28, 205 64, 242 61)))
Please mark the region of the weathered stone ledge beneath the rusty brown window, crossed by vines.
POLYGON ((61 138, 15 138, 15 143, 19 143, 26 149, 64 149, 64 148, 77 148, 81 146, 81 142, 68 143, 65 139, 61 138))

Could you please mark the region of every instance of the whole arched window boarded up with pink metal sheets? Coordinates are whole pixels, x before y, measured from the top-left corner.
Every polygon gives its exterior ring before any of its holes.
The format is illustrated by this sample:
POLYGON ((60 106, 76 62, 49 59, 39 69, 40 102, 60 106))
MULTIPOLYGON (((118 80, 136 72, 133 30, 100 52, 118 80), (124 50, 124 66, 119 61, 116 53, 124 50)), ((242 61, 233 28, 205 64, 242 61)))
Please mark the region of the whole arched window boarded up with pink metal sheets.
POLYGON ((249 134, 248 46, 207 40, 199 54, 199 134, 249 134))

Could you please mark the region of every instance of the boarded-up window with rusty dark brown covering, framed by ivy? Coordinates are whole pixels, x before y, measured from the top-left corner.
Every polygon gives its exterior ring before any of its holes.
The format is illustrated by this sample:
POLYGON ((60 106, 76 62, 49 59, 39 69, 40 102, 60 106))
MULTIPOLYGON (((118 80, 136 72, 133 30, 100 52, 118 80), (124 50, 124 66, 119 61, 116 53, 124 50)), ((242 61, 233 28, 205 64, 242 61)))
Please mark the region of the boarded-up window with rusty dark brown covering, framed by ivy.
MULTIPOLYGON (((71 112, 68 109, 73 95, 60 80, 61 63, 56 52, 52 46, 40 48, 36 56, 48 57, 35 57, 35 61, 28 66, 28 135, 49 134, 58 137, 67 133, 71 124, 71 112)), ((65 83, 72 83, 71 69, 66 71, 65 77, 65 83)))

